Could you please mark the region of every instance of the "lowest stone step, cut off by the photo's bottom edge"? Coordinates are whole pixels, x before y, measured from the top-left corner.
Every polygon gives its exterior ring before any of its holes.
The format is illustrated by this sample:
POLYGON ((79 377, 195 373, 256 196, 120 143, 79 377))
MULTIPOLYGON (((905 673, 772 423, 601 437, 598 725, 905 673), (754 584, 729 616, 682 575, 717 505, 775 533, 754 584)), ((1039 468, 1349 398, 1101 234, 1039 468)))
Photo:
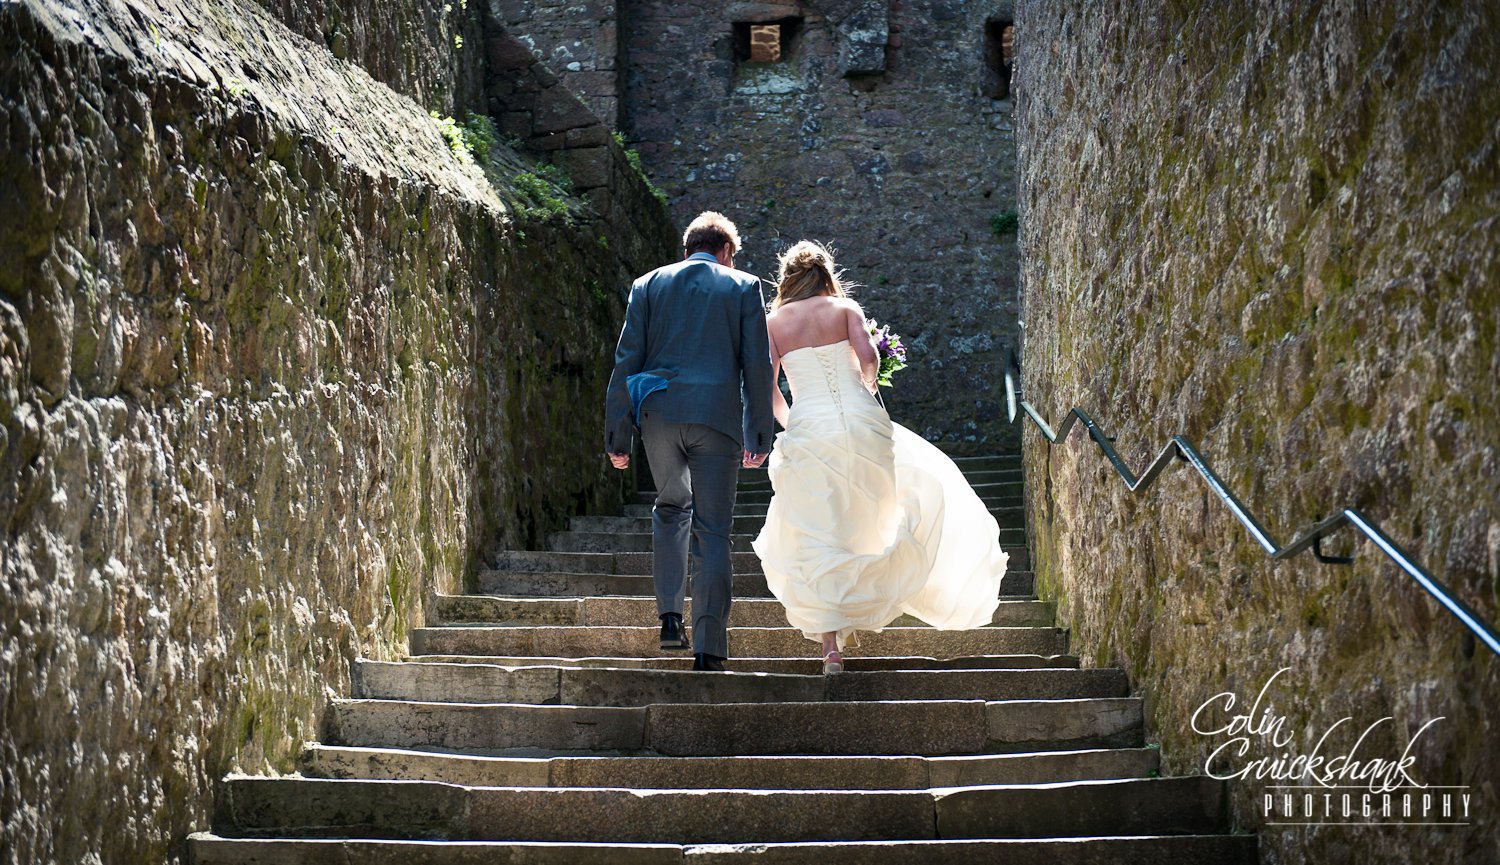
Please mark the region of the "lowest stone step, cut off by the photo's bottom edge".
POLYGON ((1252 835, 801 844, 567 844, 189 837, 195 865, 1256 865, 1252 835))

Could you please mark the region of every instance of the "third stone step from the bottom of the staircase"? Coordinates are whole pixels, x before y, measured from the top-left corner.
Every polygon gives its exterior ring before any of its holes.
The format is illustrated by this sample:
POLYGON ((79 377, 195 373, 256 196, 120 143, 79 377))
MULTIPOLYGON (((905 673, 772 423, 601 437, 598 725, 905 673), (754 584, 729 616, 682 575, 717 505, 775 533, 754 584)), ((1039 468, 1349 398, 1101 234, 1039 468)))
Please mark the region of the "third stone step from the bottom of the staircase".
POLYGON ((1160 756, 1156 748, 1114 748, 964 757, 474 757, 310 745, 300 772, 471 787, 926 790, 1146 778, 1160 769, 1160 756))

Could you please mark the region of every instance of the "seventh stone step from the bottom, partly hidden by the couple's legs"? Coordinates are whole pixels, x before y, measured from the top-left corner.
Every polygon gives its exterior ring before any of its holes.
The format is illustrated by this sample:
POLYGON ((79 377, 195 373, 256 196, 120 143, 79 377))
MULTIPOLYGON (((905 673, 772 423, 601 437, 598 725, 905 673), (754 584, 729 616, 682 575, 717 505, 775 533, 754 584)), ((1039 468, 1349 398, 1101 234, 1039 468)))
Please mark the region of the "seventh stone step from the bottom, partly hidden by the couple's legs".
MULTIPOLYGON (((528 598, 504 595, 438 595, 434 609, 436 622, 513 624, 513 625, 648 625, 657 622, 656 597, 596 597, 596 598, 528 598)), ((994 609, 990 624, 1023 628, 1052 627, 1056 604, 1036 600, 1006 600, 994 609)), ((684 609, 693 621, 693 603, 684 609)), ((786 627, 786 607, 774 598, 742 598, 730 609, 732 622, 746 628, 786 627)), ((912 616, 900 616, 892 625, 921 627, 912 616)))

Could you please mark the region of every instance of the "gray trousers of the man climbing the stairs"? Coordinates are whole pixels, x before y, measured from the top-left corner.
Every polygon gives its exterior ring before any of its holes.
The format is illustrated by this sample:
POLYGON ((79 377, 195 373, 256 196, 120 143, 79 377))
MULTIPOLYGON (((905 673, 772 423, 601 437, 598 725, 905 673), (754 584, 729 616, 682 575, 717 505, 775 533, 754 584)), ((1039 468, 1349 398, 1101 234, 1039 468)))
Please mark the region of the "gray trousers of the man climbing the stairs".
POLYGON ((651 510, 651 579, 657 613, 682 613, 687 559, 693 558, 693 651, 729 657, 729 603, 740 442, 704 424, 640 412, 640 441, 657 484, 651 510), (688 544, 692 535, 692 544, 688 544))

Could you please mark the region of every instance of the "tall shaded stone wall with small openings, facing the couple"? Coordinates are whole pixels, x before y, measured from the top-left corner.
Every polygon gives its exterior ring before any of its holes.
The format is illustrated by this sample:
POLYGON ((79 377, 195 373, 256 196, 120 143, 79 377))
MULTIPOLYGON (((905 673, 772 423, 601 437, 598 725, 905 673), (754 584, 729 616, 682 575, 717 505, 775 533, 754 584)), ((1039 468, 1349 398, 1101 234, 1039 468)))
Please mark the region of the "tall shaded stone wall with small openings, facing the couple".
POLYGON ((987 96, 984 45, 1010 3, 495 6, 540 55, 579 63, 594 103, 610 79, 591 51, 618 51, 621 129, 680 223, 714 208, 740 225, 738 267, 771 277, 802 237, 840 250, 870 315, 910 343, 914 366, 886 394, 897 420, 933 439, 1014 441, 999 373, 1016 237, 992 229, 1016 208, 1014 142, 1010 100, 987 96), (736 22, 786 19, 782 61, 736 58, 736 22))

